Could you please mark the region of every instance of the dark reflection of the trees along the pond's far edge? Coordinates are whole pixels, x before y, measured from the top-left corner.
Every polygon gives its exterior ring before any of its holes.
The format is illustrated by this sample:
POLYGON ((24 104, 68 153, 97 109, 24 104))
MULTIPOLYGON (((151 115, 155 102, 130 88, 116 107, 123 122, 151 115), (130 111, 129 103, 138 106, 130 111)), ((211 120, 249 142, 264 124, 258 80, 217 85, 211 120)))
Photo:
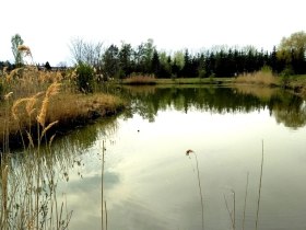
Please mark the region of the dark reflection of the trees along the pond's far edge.
POLYGON ((211 113, 249 113, 268 108, 278 123, 298 128, 306 124, 303 100, 279 89, 269 88, 155 88, 142 90, 122 89, 122 94, 132 101, 132 110, 127 117, 138 113, 154 122, 158 111, 173 106, 188 113, 190 110, 211 113))

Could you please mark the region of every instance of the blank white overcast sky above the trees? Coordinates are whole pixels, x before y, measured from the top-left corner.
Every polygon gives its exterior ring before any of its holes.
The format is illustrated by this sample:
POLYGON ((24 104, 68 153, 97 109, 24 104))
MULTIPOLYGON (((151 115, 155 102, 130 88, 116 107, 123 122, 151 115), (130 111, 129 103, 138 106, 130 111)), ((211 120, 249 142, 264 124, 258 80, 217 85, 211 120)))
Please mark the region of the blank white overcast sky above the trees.
POLYGON ((0 60, 14 62, 20 34, 34 61, 71 64, 75 38, 133 47, 154 41, 173 53, 226 45, 271 50, 306 31, 305 0, 10 0, 1 2, 0 60))

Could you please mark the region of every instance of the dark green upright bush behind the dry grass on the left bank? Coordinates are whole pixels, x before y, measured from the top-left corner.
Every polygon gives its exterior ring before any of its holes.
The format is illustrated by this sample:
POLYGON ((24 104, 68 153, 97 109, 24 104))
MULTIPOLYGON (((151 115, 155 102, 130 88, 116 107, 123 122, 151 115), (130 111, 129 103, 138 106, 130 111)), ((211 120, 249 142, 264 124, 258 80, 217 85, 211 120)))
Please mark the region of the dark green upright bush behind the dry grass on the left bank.
POLYGON ((76 67, 76 85, 79 91, 92 93, 94 88, 94 69, 86 64, 76 67))

